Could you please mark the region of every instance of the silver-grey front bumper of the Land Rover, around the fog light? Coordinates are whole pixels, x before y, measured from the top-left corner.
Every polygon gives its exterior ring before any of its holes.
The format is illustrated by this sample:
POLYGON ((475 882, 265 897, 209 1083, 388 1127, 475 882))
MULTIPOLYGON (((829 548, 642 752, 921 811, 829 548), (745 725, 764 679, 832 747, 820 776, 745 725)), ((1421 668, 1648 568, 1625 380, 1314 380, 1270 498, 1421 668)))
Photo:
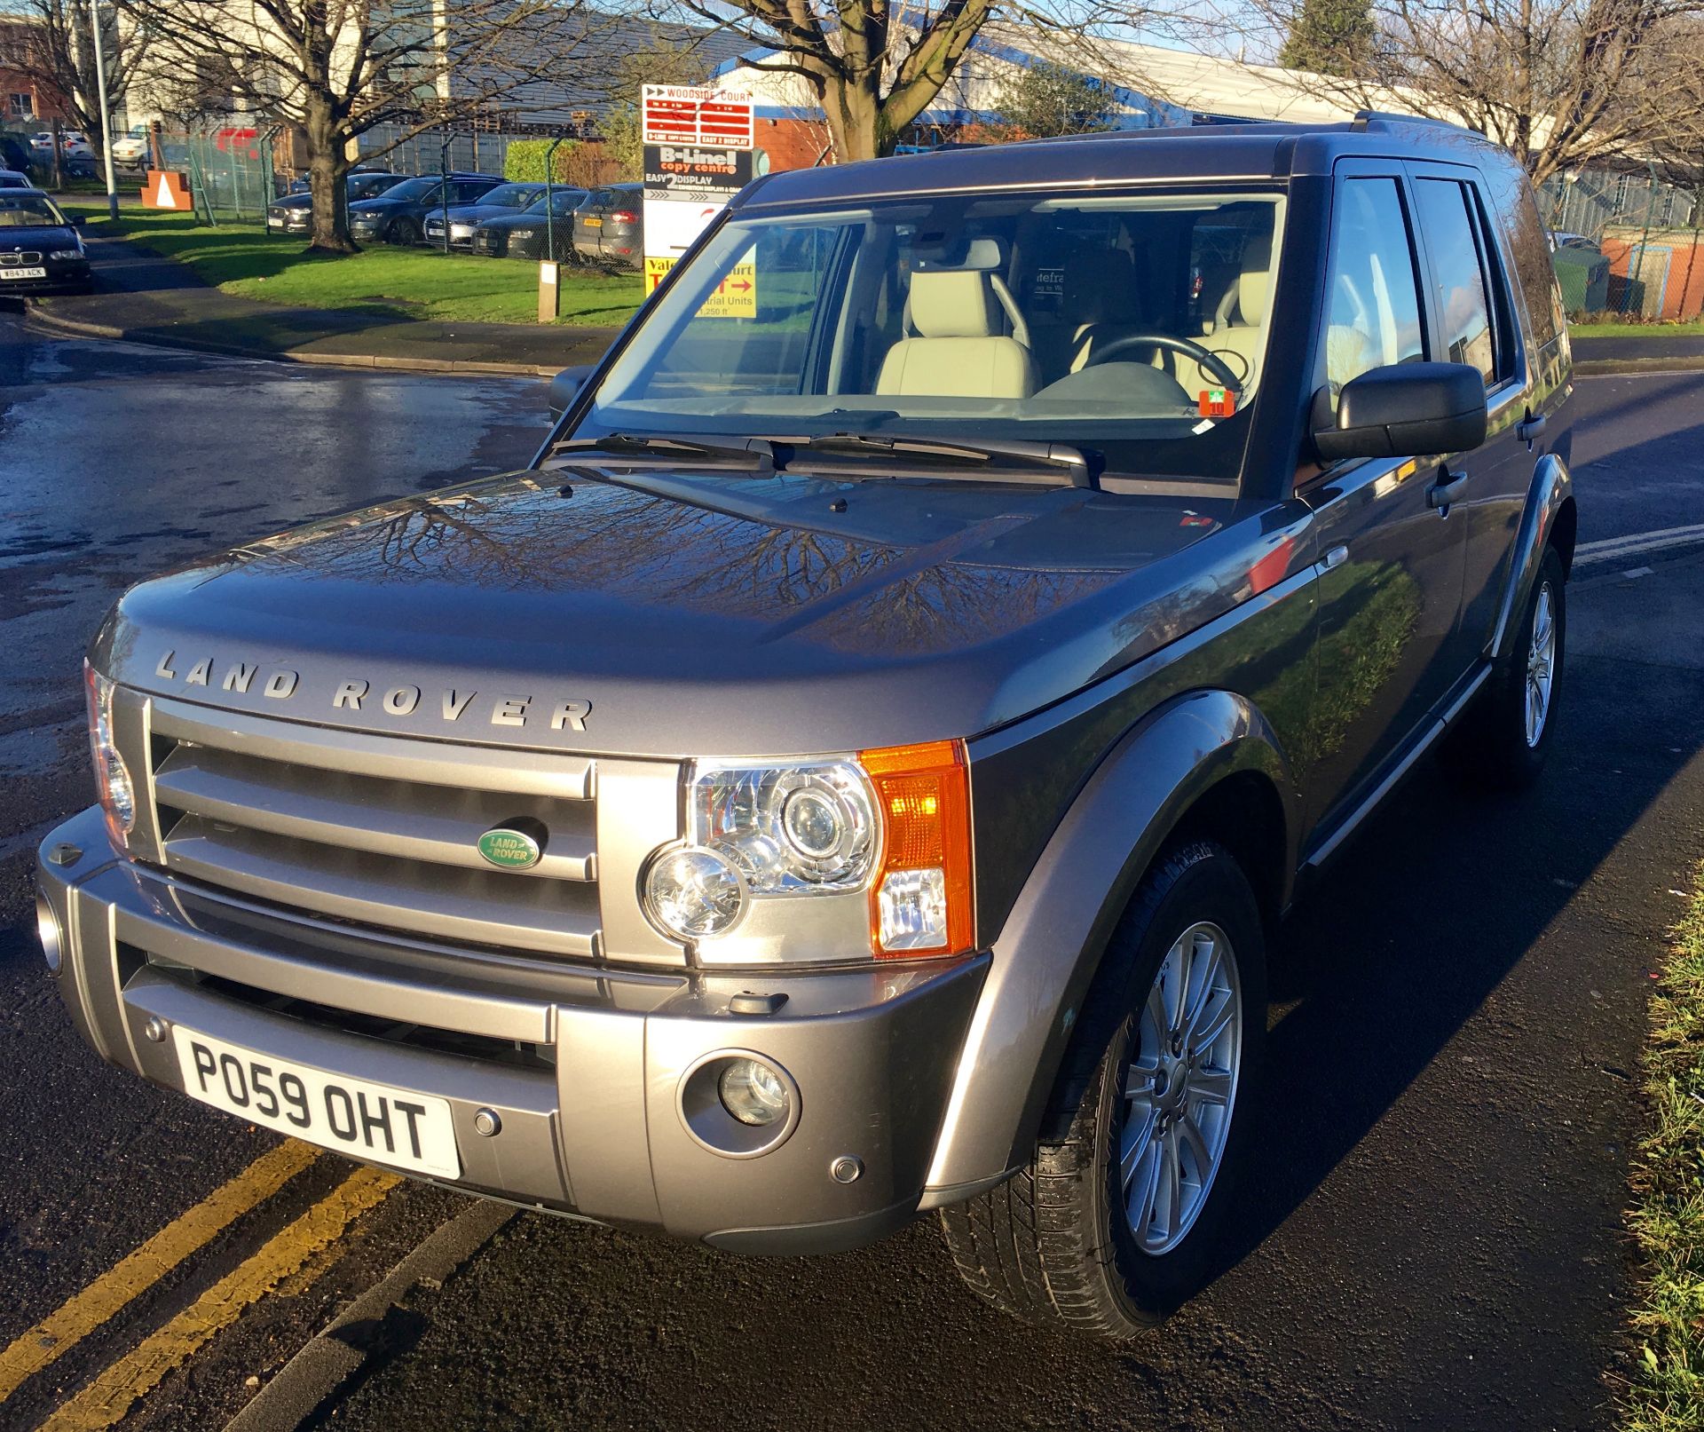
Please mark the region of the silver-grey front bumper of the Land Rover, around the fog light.
POLYGON ((939 1202, 924 1185, 985 956, 622 972, 235 902, 116 857, 95 810, 41 849, 60 996, 104 1059, 150 1083, 182 1089, 172 1042, 147 1036, 155 1019, 435 1094, 453 1113, 453 1187, 736 1251, 852 1248, 939 1202), (743 990, 787 999, 734 1014, 743 990), (797 1125, 770 1152, 724 1156, 688 1132, 682 1084, 722 1050, 769 1059, 799 1089, 797 1125), (498 1134, 475 1130, 481 1110, 498 1113, 498 1134), (845 1158, 861 1168, 850 1183, 830 1171, 845 1158))

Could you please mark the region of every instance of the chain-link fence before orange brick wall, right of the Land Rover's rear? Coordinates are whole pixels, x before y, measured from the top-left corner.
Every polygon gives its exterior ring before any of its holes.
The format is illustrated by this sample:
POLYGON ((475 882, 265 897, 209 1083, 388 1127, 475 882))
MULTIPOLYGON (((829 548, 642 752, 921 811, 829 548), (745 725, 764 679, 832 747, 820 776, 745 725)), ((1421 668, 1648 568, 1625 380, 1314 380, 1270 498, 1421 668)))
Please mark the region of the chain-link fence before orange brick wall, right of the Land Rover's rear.
POLYGON ((1704 314, 1704 186, 1649 170, 1585 170, 1547 179, 1540 203, 1569 312, 1704 314))

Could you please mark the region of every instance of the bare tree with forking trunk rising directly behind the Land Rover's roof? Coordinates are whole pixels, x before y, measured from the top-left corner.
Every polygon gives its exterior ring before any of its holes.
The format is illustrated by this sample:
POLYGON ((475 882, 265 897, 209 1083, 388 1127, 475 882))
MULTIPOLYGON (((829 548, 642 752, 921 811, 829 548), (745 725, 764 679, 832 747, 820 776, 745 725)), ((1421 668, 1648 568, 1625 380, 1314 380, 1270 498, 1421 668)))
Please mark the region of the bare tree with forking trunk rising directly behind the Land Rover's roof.
POLYGON ((976 36, 997 15, 1036 27, 1050 46, 1087 39, 1102 24, 1142 17, 1128 3, 1062 0, 1051 10, 997 0, 680 0, 748 39, 770 58, 745 68, 797 75, 828 121, 835 159, 893 153, 907 126, 953 78, 976 36))

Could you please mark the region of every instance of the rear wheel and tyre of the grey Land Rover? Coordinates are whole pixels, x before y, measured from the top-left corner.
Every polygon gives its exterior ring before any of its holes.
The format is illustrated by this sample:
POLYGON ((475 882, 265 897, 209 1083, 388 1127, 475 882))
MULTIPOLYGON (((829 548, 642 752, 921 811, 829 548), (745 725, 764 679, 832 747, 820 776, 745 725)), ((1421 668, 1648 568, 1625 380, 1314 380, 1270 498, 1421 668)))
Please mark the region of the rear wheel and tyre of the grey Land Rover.
POLYGON ((1510 656, 1464 714, 1447 754, 1476 786, 1520 791, 1539 779, 1556 731, 1568 638, 1563 559, 1544 549, 1510 656))

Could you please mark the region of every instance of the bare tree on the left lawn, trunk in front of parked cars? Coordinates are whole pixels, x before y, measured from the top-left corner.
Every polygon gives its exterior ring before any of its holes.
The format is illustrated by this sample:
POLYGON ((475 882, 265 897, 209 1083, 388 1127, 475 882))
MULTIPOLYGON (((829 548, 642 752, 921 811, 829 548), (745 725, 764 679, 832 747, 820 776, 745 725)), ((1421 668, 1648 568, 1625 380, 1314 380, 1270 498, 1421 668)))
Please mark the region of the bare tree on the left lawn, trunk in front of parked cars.
MULTIPOLYGON (((314 196, 312 247, 354 252, 353 141, 486 114, 523 85, 573 82, 595 34, 619 24, 590 0, 126 0, 155 36, 153 68, 179 87, 223 89, 244 109, 296 126, 314 196), (584 53, 584 58, 581 55, 584 53)), ((164 82, 162 82, 164 84, 164 82)))

